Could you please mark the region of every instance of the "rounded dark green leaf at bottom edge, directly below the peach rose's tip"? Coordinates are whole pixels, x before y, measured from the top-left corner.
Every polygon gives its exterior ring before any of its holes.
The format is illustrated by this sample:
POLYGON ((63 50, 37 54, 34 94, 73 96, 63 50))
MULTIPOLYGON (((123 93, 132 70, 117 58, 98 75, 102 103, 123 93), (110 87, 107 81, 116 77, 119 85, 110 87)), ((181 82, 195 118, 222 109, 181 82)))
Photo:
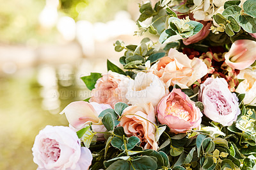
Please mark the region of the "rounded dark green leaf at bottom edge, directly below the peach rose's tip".
POLYGON ((136 160, 132 160, 134 169, 157 169, 157 162, 152 157, 142 156, 136 160))

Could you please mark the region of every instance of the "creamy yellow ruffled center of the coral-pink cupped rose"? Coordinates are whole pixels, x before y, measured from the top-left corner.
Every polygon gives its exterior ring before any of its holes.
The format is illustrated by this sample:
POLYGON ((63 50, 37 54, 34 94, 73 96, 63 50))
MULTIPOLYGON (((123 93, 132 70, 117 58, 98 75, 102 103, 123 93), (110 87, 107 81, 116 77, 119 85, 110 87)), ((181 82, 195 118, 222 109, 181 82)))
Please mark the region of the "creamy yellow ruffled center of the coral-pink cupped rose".
POLYGON ((180 120, 190 120, 189 112, 186 111, 186 109, 176 101, 167 102, 165 114, 176 116, 180 118, 180 120))

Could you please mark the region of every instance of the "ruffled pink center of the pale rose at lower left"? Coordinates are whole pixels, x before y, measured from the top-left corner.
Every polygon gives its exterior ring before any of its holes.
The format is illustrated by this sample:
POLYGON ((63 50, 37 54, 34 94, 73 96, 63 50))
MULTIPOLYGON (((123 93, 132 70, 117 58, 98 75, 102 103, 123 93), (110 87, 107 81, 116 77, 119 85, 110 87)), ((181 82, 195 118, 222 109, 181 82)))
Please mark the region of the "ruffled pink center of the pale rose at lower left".
POLYGON ((44 153, 45 160, 50 159, 56 162, 60 157, 60 146, 54 139, 43 139, 41 151, 44 153))

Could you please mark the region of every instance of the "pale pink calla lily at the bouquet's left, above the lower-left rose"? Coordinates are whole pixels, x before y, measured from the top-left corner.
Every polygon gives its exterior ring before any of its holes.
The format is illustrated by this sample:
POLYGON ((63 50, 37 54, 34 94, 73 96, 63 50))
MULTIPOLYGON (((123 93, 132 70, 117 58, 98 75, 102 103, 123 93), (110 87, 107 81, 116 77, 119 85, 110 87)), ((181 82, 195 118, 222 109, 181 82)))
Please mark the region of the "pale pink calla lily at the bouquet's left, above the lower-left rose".
MULTIPOLYGON (((60 114, 65 113, 70 127, 76 131, 92 122, 94 132, 105 132, 106 128, 102 125, 100 118, 98 118, 100 112, 105 109, 111 109, 111 106, 108 104, 97 104, 96 102, 79 101, 68 104, 60 114)), ((103 135, 99 134, 98 137, 103 137, 103 135)))

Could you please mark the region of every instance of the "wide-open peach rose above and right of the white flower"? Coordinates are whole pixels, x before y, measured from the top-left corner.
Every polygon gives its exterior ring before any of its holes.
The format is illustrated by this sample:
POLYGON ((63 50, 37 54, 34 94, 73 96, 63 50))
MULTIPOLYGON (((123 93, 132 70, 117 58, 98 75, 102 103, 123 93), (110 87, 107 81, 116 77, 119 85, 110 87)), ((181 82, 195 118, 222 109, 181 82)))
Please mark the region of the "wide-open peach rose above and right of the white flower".
POLYGON ((152 65, 149 72, 160 77, 167 86, 179 84, 185 88, 206 75, 207 66, 198 58, 189 59, 186 54, 170 49, 168 56, 152 65))

